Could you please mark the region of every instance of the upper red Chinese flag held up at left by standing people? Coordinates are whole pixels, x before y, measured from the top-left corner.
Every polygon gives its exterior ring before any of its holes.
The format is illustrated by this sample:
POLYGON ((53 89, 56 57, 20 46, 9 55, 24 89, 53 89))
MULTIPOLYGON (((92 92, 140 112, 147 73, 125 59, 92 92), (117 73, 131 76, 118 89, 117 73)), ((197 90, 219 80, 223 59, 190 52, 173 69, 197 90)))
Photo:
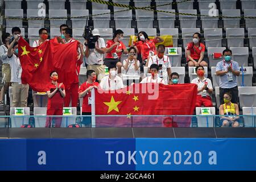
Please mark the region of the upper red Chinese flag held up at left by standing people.
POLYGON ((58 82, 63 82, 69 88, 73 82, 78 82, 80 62, 77 61, 79 42, 60 44, 56 38, 44 42, 38 47, 30 45, 20 37, 18 42, 19 59, 22 65, 22 83, 29 84, 37 92, 45 92, 51 82, 50 73, 57 71, 58 82))

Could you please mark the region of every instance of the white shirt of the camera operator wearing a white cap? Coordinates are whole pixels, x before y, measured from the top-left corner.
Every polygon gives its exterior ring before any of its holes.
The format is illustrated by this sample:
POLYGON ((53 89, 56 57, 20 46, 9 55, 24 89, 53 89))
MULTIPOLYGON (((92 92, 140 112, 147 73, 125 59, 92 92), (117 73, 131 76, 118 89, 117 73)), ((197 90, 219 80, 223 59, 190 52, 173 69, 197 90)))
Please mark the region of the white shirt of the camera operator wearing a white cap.
MULTIPOLYGON (((98 41, 95 43, 95 46, 98 48, 106 48, 105 41, 103 38, 98 38, 98 41)), ((86 46, 84 46, 84 51, 86 51, 86 46)), ((99 53, 96 49, 89 49, 89 56, 85 57, 85 63, 88 65, 93 64, 103 64, 104 53, 99 53)))

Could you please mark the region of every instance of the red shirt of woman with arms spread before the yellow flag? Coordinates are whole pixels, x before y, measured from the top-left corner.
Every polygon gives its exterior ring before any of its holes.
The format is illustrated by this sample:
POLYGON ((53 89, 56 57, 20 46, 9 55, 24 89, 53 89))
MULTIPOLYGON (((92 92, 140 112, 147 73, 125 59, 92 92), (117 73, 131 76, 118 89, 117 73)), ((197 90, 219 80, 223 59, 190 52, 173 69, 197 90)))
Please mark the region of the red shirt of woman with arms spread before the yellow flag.
POLYGON ((155 44, 156 44, 156 39, 150 39, 147 42, 139 41, 135 43, 135 46, 138 48, 138 51, 142 56, 142 60, 147 59, 150 51, 154 51, 156 55, 155 44))

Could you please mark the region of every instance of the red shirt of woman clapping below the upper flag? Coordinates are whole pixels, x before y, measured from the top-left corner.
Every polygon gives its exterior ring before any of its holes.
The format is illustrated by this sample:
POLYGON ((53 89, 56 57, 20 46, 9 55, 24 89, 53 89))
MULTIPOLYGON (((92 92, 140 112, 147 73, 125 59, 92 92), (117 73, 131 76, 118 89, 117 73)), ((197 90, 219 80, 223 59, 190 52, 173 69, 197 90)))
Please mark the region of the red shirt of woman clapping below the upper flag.
MULTIPOLYGON (((58 86, 60 83, 57 83, 58 86)), ((65 86, 61 85, 60 87, 62 90, 65 90, 65 86)), ((51 93, 56 89, 56 86, 52 83, 47 86, 46 91, 50 91, 51 93)), ((48 98, 48 105, 47 109, 63 109, 64 105, 64 97, 61 96, 59 90, 52 96, 52 98, 48 98)))

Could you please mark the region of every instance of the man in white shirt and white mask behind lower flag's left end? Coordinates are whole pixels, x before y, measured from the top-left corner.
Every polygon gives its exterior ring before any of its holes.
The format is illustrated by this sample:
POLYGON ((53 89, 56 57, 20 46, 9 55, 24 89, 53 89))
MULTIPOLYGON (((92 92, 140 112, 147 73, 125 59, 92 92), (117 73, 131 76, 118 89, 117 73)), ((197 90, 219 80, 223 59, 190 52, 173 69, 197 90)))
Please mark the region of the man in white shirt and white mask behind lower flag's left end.
POLYGON ((117 67, 115 65, 109 65, 109 76, 102 78, 100 83, 102 90, 117 90, 123 88, 123 80, 117 76, 117 67))

